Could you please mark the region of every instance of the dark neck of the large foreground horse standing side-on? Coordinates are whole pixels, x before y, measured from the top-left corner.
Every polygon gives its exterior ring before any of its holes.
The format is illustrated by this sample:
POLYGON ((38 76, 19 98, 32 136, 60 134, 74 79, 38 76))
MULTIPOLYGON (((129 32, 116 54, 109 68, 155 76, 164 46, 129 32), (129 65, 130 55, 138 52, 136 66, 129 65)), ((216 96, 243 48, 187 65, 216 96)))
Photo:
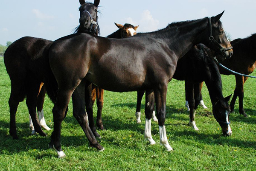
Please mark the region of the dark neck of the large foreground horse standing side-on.
MULTIPOLYGON (((165 41, 169 48, 175 52, 178 59, 184 56, 194 45, 208 44, 204 39, 204 31, 208 26, 208 18, 178 22, 170 24, 166 28, 152 33, 165 41)), ((150 33, 149 33, 150 34, 150 33)))

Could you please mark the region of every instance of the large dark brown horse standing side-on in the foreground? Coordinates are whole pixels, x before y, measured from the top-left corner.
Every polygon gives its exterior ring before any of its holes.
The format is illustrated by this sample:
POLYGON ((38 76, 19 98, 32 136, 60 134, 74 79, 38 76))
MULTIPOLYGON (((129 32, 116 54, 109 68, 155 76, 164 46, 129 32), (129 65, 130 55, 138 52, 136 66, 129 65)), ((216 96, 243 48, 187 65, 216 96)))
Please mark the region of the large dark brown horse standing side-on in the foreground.
MULTIPOLYGON (((54 130, 49 146, 57 151, 58 157, 65 156, 60 142, 61 123, 71 96, 76 109, 80 109, 73 112, 73 115, 79 118, 77 121, 82 129, 87 129, 84 105, 91 105, 87 104, 91 93, 84 93, 87 81, 109 91, 146 90, 145 138, 150 144, 155 144, 151 136, 151 117, 155 102, 160 144, 171 151, 164 125, 167 84, 175 73, 177 61, 198 43, 204 43, 213 49, 220 58, 232 56, 232 47, 219 20, 223 12, 215 17, 175 22, 162 30, 126 39, 109 39, 80 33, 53 42, 48 49, 51 72, 47 78, 48 83, 52 84, 47 84, 47 87, 51 85, 48 87, 52 89, 49 97, 55 101, 52 109, 54 130)), ((215 117, 218 121, 226 122, 228 116, 226 113, 218 116, 219 118, 215 117)), ((227 132, 228 126, 224 127, 227 132)), ((91 132, 88 136, 91 146, 104 149, 91 132)))

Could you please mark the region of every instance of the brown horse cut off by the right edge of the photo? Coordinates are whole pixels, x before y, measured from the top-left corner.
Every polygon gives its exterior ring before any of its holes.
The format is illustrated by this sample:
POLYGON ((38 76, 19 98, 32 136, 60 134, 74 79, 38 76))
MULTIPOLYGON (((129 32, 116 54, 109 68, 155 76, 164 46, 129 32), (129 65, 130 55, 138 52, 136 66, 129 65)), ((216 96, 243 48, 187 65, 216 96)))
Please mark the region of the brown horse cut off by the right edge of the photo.
MULTIPOLYGON (((226 59, 221 63, 228 67, 231 70, 234 70, 238 73, 249 75, 253 72, 256 67, 256 50, 253 47, 256 47, 256 34, 252 34, 244 39, 235 39, 230 42, 235 51, 232 59, 226 59)), ((234 111, 234 106, 236 98, 239 97, 239 113, 244 117, 247 117, 247 114, 244 111, 243 98, 244 98, 244 83, 248 77, 240 76, 235 73, 232 73, 228 70, 225 70, 223 67, 219 66, 219 71, 223 75, 235 75, 236 77, 236 88, 234 90, 233 98, 230 102, 231 112, 234 111)), ((200 88, 201 92, 201 88, 200 88)), ((201 95, 201 93, 200 93, 201 95)))

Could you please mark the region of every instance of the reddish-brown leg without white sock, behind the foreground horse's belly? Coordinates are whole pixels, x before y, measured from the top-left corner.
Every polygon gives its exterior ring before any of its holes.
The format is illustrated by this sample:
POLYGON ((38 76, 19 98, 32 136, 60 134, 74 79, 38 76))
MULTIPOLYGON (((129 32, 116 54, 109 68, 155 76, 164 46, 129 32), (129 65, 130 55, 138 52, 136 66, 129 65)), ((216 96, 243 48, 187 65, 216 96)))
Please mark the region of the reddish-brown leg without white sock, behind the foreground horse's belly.
POLYGON ((96 87, 96 97, 97 97, 97 120, 96 125, 99 129, 104 130, 104 126, 102 123, 102 107, 104 101, 104 90, 102 88, 96 87))

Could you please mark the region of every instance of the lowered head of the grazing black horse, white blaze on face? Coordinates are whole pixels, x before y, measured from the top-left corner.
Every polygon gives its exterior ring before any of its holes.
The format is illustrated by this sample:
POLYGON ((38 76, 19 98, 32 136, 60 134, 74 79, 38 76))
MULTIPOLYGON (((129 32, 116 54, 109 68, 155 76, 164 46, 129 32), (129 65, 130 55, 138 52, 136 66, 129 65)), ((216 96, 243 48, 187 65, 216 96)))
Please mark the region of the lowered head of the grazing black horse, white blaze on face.
POLYGON ((213 116, 220 124, 222 133, 225 136, 230 136, 232 134, 229 120, 230 106, 228 104, 230 97, 231 95, 227 96, 222 100, 218 99, 216 103, 212 106, 213 116))

